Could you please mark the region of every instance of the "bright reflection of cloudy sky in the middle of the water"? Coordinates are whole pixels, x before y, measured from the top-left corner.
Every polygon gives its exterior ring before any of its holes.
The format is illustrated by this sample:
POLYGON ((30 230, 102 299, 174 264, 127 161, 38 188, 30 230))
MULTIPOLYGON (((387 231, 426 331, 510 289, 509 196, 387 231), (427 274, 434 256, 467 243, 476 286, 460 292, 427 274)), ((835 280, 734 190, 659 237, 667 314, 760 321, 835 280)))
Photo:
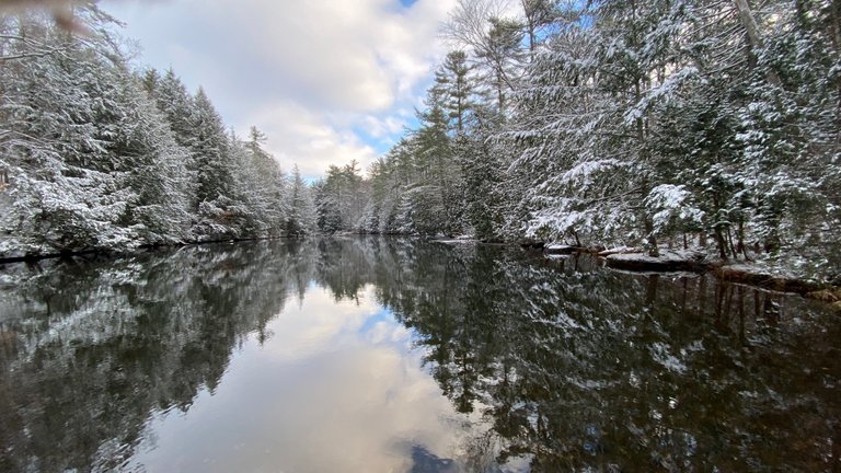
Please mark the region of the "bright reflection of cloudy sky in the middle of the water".
POLYGON ((262 346, 251 337, 234 354, 212 395, 155 416, 131 468, 407 472, 418 449, 457 455, 465 431, 373 287, 358 304, 311 287, 268 328, 262 346))

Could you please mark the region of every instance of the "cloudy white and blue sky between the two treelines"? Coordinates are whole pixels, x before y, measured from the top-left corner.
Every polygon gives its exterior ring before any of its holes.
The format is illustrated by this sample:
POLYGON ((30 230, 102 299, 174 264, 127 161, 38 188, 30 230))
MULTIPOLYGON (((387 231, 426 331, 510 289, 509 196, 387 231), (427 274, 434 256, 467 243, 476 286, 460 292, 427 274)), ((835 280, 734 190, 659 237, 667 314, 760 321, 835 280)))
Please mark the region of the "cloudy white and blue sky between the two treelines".
POLYGON ((137 66, 203 86, 229 126, 253 125, 289 172, 365 170, 414 124, 446 54, 456 0, 104 1, 140 46, 137 66))

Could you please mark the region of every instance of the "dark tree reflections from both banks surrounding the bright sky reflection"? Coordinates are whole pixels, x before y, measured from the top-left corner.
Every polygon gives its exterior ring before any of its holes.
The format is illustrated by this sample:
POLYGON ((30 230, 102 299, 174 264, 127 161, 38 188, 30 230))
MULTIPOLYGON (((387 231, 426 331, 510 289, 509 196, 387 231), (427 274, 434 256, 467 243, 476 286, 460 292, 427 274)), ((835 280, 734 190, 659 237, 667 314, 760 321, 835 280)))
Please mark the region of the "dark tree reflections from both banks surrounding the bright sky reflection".
POLYGON ((841 324, 798 297, 587 256, 389 239, 0 267, 0 470, 103 471, 315 281, 376 287, 491 430, 412 472, 838 471, 841 324), (520 466, 510 466, 520 465, 520 466))

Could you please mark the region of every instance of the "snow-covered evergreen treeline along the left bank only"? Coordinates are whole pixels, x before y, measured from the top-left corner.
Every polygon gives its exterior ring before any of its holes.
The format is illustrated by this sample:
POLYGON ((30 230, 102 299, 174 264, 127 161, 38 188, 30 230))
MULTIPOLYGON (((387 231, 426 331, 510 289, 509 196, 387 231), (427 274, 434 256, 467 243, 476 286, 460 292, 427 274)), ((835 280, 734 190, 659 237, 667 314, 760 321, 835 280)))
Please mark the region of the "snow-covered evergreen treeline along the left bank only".
POLYGON ((252 128, 172 71, 137 72, 95 2, 71 34, 0 16, 0 257, 300 234, 314 205, 252 128))

